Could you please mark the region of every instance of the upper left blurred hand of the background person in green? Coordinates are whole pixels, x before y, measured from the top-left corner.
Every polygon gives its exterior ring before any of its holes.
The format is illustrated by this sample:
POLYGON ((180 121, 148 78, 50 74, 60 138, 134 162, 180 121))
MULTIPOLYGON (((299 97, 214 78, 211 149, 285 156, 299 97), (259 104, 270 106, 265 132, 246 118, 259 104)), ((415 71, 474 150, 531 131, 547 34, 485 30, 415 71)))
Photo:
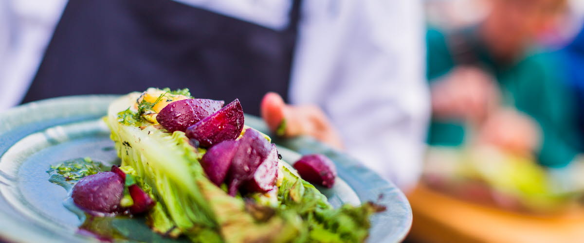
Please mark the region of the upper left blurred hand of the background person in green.
POLYGON ((457 118, 481 123, 498 105, 496 82, 478 68, 458 67, 434 82, 432 112, 437 118, 457 118))

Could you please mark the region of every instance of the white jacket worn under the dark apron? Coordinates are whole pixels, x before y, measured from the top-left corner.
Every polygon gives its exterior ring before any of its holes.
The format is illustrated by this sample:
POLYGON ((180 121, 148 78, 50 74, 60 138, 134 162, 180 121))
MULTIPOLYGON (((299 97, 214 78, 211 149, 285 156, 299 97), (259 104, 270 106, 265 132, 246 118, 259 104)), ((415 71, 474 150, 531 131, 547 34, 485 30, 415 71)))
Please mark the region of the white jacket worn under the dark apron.
MULTIPOLYGON (((176 0, 272 29, 289 0, 176 0)), ((0 0, 0 104, 20 103, 66 0, 0 0)), ((317 104, 347 153, 402 189, 418 180, 429 117, 422 2, 305 0, 288 97, 317 104)))

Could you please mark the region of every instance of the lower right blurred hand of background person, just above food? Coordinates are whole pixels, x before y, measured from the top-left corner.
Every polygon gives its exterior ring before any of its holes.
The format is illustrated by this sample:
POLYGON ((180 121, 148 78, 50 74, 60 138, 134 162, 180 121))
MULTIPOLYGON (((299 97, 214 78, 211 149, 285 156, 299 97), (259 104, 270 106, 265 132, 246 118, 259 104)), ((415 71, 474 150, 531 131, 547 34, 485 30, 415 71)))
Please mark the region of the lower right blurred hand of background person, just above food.
POLYGON ((507 152, 529 155, 540 146, 540 126, 531 117, 516 110, 501 109, 486 119, 477 142, 507 152))

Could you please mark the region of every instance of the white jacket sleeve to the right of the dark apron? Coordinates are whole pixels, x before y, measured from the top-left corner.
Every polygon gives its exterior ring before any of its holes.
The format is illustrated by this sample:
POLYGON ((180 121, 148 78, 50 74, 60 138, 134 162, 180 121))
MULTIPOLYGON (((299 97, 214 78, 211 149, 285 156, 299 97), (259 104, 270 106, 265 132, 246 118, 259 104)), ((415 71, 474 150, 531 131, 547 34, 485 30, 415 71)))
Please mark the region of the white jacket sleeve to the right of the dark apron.
POLYGON ((304 4, 291 101, 320 105, 350 155, 411 188, 422 170, 429 119, 422 3, 304 4))

